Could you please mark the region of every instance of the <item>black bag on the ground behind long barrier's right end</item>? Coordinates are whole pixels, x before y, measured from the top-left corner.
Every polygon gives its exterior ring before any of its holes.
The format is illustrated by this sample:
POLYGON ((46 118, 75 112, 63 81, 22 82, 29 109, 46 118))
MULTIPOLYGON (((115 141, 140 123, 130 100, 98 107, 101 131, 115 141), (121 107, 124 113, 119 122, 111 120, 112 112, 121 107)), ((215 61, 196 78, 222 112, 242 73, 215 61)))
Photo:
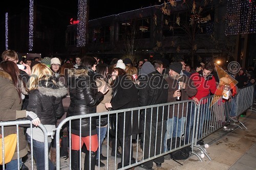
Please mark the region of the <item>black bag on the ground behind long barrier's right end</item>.
MULTIPOLYGON (((175 147, 179 148, 182 145, 184 145, 184 141, 182 139, 180 139, 180 137, 172 138, 172 149, 175 149, 175 147)), ((167 143, 167 146, 168 146, 168 150, 170 150, 170 140, 169 140, 169 143, 167 143)), ((192 149, 190 146, 187 146, 185 148, 181 148, 179 150, 171 152, 170 157, 174 160, 187 159, 190 155, 190 152, 192 152, 192 149)))

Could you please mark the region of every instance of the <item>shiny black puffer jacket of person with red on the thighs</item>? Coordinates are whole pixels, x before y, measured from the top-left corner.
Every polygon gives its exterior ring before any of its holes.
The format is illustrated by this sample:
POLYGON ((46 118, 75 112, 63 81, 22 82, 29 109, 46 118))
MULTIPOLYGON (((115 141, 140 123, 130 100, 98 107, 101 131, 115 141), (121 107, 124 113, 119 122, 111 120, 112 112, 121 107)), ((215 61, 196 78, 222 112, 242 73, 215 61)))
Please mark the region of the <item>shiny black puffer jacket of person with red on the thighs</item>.
MULTIPOLYGON (((70 106, 67 117, 96 113, 96 106, 103 99, 103 93, 98 92, 95 82, 96 72, 86 67, 69 70, 68 86, 70 92, 70 106)), ((97 134, 96 119, 92 117, 91 135, 97 134)), ((79 135, 80 120, 71 121, 71 133, 79 135)), ((69 122, 67 123, 69 130, 69 122)), ((81 120, 81 135, 90 135, 90 118, 81 120)))

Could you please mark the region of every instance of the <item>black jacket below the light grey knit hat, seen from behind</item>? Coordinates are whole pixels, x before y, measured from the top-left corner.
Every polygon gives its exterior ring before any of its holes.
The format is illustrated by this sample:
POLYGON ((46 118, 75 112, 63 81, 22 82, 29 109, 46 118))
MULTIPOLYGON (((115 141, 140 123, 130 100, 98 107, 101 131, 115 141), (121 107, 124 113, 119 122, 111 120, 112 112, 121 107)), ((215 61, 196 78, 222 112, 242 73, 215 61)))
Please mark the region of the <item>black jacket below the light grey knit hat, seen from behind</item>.
MULTIPOLYGON (((139 106, 150 106, 156 104, 167 103, 168 99, 168 84, 166 80, 159 74, 159 72, 151 72, 145 77, 140 78, 139 85, 139 106)), ((162 112, 163 107, 146 109, 146 122, 161 122, 162 116, 166 120, 168 117, 168 107, 164 107, 164 114, 162 112), (152 113, 151 113, 152 112, 152 113), (158 112, 158 117, 157 117, 158 112), (152 115, 151 115, 152 114, 152 115)), ((142 111, 141 119, 145 119, 145 111, 142 111)))

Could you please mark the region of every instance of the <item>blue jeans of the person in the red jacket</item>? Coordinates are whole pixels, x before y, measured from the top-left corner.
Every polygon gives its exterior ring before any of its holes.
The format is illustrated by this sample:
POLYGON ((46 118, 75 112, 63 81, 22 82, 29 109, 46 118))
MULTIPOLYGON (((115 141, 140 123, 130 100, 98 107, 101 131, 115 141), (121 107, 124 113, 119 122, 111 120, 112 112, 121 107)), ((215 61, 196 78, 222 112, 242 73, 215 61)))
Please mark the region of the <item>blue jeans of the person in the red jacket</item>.
MULTIPOLYGON (((199 116, 200 116, 199 117, 200 126, 198 127, 198 136, 197 136, 197 138, 202 137, 203 125, 204 125, 204 122, 206 120, 206 115, 207 115, 208 118, 210 117, 209 104, 210 104, 210 101, 208 101, 206 104, 201 104, 200 114, 199 114, 199 116)), ((195 113, 195 105, 191 104, 191 103, 188 103, 185 144, 191 142, 195 114, 197 114, 197 113, 195 113), (190 112, 190 110, 191 110, 191 112, 190 112)))

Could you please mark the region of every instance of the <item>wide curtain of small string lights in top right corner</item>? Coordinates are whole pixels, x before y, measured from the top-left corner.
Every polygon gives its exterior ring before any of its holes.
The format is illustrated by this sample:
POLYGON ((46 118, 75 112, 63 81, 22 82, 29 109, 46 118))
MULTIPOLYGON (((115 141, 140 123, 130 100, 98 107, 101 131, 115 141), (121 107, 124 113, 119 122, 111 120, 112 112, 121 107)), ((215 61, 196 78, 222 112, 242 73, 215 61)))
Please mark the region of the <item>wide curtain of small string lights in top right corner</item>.
POLYGON ((226 35, 256 33, 256 1, 228 0, 226 35))

